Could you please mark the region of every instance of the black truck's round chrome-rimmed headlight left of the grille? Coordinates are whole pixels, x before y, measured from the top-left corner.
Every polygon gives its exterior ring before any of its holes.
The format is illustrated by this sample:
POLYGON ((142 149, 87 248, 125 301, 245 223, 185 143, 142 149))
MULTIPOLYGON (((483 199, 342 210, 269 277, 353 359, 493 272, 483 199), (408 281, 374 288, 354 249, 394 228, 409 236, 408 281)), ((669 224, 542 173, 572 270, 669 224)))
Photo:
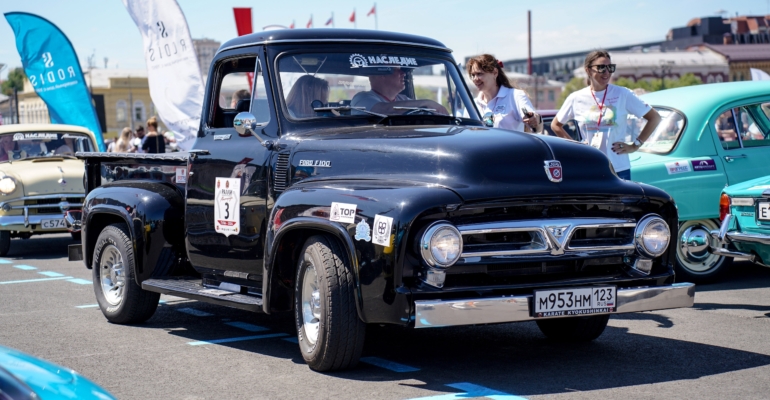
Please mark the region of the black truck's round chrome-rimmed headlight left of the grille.
POLYGON ((454 225, 439 221, 433 223, 420 240, 420 253, 431 267, 447 268, 460 259, 463 237, 454 225))

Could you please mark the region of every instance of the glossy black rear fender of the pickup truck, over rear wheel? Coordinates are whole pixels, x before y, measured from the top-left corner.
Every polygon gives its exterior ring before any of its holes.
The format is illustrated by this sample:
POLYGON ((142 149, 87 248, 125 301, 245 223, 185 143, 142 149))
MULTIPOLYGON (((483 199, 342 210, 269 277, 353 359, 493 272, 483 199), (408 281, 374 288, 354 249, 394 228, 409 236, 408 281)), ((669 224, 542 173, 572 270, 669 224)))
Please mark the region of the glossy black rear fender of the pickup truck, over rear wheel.
POLYGON ((168 274, 184 254, 184 196, 172 185, 119 181, 92 190, 83 206, 83 253, 91 268, 102 229, 115 222, 128 226, 137 284, 168 274))

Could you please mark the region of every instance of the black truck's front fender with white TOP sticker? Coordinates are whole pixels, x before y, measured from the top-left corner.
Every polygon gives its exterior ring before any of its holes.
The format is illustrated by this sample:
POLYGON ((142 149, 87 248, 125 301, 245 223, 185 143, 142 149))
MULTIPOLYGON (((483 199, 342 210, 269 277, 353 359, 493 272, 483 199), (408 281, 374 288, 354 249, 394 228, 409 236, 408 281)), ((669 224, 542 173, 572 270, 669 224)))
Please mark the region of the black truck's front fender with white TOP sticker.
POLYGON ((267 229, 264 311, 287 309, 304 241, 313 234, 328 233, 340 241, 349 258, 362 321, 407 325, 411 298, 401 283, 401 266, 410 245, 407 233, 418 216, 431 212, 444 215, 447 208, 460 203, 455 192, 424 184, 326 181, 295 186, 276 201, 267 229), (330 221, 332 202, 355 204, 355 222, 330 221), (393 218, 390 246, 372 243, 376 215, 393 218), (368 237, 357 235, 359 224, 368 237))

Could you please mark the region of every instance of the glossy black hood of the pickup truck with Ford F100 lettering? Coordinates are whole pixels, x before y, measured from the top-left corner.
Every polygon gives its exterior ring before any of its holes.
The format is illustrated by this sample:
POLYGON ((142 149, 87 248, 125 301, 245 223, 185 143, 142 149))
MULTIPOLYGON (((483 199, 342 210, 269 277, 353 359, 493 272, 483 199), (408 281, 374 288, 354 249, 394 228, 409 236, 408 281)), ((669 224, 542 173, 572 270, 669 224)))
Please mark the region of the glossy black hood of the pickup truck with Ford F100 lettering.
POLYGON ((281 139, 292 149, 291 182, 405 180, 438 185, 466 202, 527 196, 643 195, 600 151, 564 139, 467 126, 314 130, 281 139), (552 182, 545 161, 561 162, 552 182))

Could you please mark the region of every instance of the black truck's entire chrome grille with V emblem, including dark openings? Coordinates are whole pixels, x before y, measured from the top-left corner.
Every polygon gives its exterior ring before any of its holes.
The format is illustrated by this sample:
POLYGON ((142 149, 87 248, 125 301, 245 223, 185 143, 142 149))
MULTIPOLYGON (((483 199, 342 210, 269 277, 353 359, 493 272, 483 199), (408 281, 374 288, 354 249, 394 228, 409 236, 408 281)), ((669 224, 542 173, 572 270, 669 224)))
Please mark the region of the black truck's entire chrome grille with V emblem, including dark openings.
POLYGON ((634 249, 636 221, 572 218, 461 225, 463 258, 562 255, 634 249))

